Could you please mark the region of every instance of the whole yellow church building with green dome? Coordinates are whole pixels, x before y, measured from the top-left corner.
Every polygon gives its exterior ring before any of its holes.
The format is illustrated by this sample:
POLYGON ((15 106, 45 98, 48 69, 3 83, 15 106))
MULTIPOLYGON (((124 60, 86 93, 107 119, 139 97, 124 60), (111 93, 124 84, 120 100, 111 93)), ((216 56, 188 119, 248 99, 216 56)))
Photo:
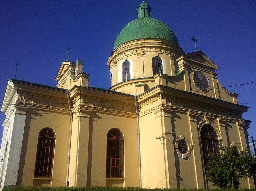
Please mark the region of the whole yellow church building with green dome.
MULTIPOLYGON (((221 85, 210 58, 185 53, 150 11, 144 0, 116 37, 109 89, 89 86, 81 59, 62 62, 56 87, 7 81, 1 189, 216 188, 206 156, 219 144, 249 148, 249 107, 221 85)), ((240 188, 255 188, 253 179, 240 188)))

